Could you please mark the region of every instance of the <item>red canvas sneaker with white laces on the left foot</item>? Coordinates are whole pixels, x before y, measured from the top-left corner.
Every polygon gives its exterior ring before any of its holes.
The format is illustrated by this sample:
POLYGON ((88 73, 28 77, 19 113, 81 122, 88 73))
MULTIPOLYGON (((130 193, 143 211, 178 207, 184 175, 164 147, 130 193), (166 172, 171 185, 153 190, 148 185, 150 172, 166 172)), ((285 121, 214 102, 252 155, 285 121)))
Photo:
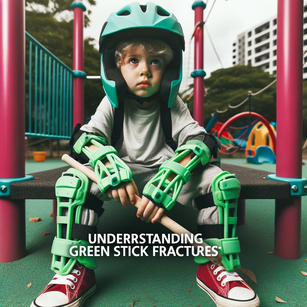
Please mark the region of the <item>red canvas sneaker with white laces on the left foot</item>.
POLYGON ((77 262, 70 274, 55 274, 30 307, 81 307, 95 290, 94 270, 77 262))

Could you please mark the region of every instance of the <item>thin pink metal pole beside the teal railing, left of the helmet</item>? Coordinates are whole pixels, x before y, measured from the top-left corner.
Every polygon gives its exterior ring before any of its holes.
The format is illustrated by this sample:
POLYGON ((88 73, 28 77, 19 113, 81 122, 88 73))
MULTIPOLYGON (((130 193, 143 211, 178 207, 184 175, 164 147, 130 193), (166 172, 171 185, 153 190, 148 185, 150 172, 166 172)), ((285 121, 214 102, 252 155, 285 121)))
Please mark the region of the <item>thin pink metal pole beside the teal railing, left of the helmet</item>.
MULTIPOLYGON (((79 2, 75 0, 75 2, 79 2)), ((81 6, 74 7, 74 29, 73 29, 73 66, 74 71, 84 70, 84 9, 81 6)), ((85 8, 85 7, 84 7, 85 8)), ((73 127, 80 122, 84 124, 84 84, 83 78, 73 78, 73 127)))

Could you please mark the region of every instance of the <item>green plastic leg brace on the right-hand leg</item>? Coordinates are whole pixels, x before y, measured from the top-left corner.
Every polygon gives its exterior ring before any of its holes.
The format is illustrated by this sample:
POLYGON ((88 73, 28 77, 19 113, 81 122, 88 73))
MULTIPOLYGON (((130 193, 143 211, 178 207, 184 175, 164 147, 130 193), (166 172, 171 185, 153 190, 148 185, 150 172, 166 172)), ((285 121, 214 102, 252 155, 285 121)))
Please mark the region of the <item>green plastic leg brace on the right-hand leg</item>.
MULTIPOLYGON (((240 190, 241 186, 235 174, 222 172, 212 181, 213 200, 218 206, 219 223, 224 224, 224 238, 205 239, 204 242, 211 246, 221 247, 222 263, 228 272, 241 266, 239 260, 240 243, 238 237, 235 236, 240 190)), ((195 257, 195 262, 203 264, 209 262, 209 259, 199 255, 195 257)))

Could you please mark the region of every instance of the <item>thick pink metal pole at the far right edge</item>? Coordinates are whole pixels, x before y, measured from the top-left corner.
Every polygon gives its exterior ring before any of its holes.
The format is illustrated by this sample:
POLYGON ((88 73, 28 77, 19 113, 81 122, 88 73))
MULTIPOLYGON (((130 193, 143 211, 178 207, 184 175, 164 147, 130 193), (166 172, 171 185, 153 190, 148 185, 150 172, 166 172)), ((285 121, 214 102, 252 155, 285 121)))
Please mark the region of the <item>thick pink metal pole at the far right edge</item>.
MULTIPOLYGON (((277 26, 276 176, 301 178, 303 0, 278 0, 277 26)), ((275 254, 298 259, 300 242, 301 197, 275 200, 275 254)))

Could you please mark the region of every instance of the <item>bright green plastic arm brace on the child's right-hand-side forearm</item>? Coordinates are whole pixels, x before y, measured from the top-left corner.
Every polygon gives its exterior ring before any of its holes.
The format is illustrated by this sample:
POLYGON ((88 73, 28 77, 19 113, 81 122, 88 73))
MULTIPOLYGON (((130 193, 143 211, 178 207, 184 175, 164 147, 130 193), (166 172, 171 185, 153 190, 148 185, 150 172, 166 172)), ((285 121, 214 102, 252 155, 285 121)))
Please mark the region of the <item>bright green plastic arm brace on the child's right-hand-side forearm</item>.
POLYGON ((161 164, 157 175, 145 185, 143 194, 150 197, 154 202, 163 204, 165 209, 170 210, 175 204, 182 186, 190 180, 191 170, 199 162, 201 162, 202 165, 206 165, 209 163, 210 159, 210 150, 203 142, 198 140, 186 142, 185 145, 177 148, 172 158, 161 164), (196 155, 187 165, 182 166, 177 163, 192 151, 196 155), (172 172, 177 174, 177 176, 172 181, 169 181, 167 178, 172 172), (161 187, 164 190, 162 190, 161 187), (170 189, 173 190, 173 196, 168 195, 170 189))

